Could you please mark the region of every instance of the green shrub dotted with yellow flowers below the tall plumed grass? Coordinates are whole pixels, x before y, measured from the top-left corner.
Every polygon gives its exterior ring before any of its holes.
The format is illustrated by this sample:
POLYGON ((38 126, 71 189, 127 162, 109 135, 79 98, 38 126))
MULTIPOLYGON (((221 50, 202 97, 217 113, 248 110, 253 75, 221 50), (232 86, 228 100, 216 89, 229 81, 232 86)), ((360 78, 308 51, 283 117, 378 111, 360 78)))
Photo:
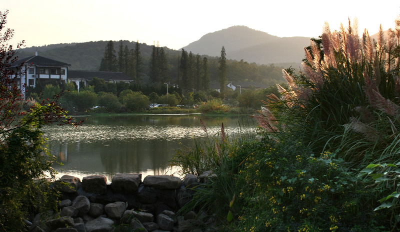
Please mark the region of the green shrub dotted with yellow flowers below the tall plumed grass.
MULTIPOLYGON (((264 142, 261 144, 265 145, 264 142)), ((237 231, 382 231, 379 204, 342 160, 314 157, 294 142, 271 141, 246 158, 239 171, 242 211, 237 231)), ((386 224, 387 225, 387 224, 386 224)))

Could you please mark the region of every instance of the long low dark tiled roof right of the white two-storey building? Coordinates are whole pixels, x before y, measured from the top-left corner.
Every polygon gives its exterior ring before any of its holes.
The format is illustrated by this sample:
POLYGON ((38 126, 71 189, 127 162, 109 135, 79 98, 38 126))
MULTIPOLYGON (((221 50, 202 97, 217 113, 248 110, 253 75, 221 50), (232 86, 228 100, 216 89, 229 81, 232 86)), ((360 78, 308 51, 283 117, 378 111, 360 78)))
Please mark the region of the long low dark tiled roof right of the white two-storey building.
POLYGON ((98 77, 104 80, 132 81, 132 78, 126 76, 122 72, 68 70, 68 79, 87 79, 88 81, 90 81, 91 79, 93 79, 93 77, 98 77))

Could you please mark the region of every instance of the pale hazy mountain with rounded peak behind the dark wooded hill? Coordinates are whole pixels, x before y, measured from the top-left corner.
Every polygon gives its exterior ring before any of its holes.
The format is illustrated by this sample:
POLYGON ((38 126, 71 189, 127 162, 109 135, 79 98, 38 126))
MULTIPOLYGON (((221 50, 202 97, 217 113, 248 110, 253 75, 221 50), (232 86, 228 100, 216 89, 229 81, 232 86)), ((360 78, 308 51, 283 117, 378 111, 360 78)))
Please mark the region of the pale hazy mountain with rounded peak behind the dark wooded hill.
POLYGON ((199 40, 183 47, 194 54, 219 56, 225 47, 228 59, 245 60, 259 64, 300 63, 304 47, 309 45, 307 37, 278 37, 246 26, 208 33, 199 40))

